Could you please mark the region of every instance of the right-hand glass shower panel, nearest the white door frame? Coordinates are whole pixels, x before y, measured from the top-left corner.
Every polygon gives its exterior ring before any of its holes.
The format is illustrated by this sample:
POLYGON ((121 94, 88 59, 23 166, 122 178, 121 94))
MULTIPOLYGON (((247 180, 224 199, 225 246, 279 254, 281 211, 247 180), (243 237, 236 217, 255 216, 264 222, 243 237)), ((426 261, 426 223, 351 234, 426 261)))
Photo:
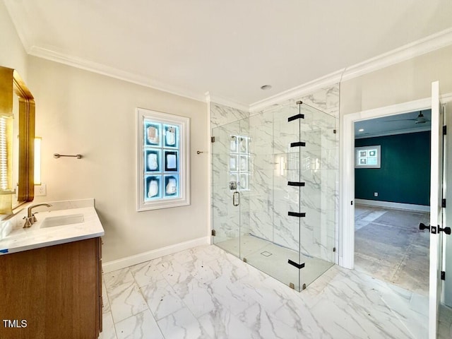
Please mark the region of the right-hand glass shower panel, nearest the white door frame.
MULTIPOLYGON (((335 259, 335 118, 299 104, 299 270, 305 288, 335 259)), ((295 121, 292 121, 295 122, 295 121)))

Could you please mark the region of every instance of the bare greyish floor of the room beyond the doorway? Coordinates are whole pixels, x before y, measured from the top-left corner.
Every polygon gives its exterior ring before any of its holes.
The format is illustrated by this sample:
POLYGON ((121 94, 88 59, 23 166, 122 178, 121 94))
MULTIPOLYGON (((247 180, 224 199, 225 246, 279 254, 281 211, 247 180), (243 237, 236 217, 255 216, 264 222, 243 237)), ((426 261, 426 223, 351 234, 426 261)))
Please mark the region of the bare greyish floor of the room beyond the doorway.
POLYGON ((423 295, 429 293, 429 213, 355 206, 355 269, 423 295))

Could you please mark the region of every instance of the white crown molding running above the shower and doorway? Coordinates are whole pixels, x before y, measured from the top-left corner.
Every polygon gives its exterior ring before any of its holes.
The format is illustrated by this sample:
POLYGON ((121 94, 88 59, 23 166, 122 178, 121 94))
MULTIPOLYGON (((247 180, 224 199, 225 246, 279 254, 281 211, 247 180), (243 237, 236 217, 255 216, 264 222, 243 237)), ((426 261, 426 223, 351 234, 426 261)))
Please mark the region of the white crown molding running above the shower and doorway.
POLYGON ((402 47, 393 49, 390 52, 380 54, 359 64, 348 66, 326 76, 318 78, 309 83, 304 83, 290 90, 286 90, 277 95, 273 95, 264 100, 254 102, 249 106, 250 112, 258 111, 265 107, 275 105, 286 100, 295 99, 313 93, 315 90, 342 83, 343 81, 357 78, 367 73, 383 69, 401 61, 406 61, 422 54, 433 52, 452 44, 452 28, 442 30, 423 39, 405 44, 402 47))

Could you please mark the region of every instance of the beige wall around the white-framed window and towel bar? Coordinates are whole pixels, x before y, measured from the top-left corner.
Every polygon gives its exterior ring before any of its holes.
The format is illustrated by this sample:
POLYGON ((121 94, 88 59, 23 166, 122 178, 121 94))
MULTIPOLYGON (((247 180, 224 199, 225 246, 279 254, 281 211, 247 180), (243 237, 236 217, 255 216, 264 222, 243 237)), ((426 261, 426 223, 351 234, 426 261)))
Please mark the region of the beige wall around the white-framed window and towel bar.
POLYGON ((208 236, 206 103, 29 57, 42 137, 35 201, 95 198, 104 262, 208 236), (191 206, 136 212, 136 107, 191 118, 191 206), (54 153, 83 155, 83 159, 54 153))

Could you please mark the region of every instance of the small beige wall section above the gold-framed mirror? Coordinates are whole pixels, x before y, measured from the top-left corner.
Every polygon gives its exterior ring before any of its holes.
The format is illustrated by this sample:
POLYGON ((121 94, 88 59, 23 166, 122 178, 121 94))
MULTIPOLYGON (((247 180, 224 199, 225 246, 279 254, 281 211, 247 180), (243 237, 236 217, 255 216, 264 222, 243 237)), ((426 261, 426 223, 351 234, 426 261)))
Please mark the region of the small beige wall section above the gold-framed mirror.
POLYGON ((27 54, 3 1, 0 1, 0 43, 0 66, 16 69, 26 82, 27 54))

